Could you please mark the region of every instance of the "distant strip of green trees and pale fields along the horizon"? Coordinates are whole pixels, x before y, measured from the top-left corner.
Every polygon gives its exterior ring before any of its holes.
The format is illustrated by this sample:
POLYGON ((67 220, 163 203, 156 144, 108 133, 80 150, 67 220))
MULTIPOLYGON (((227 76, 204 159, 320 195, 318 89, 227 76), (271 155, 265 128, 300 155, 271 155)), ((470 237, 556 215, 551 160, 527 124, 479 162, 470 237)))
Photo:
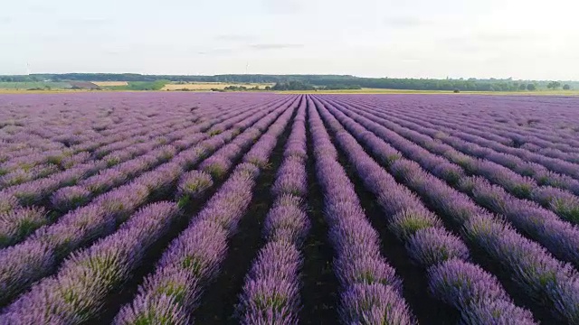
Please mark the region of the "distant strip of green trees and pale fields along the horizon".
POLYGON ((394 79, 360 78, 349 75, 215 75, 215 76, 172 76, 141 75, 134 73, 65 73, 33 74, 29 76, 0 76, 5 82, 33 81, 128 81, 130 82, 223 82, 223 83, 274 83, 288 90, 308 90, 311 88, 392 88, 414 90, 454 90, 460 91, 523 91, 536 89, 579 88, 579 81, 513 80, 513 79, 394 79), (292 84, 293 82, 293 84, 292 84), (300 89, 293 89, 299 87, 300 89))

